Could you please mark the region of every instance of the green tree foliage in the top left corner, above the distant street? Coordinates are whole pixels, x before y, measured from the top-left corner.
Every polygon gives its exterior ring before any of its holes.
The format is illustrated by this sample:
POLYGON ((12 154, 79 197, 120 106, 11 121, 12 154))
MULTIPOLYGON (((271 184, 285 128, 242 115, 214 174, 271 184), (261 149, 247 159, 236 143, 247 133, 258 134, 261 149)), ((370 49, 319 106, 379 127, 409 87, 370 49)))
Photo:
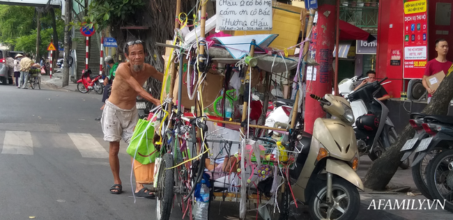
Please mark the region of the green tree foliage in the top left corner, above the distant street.
MULTIPOLYGON (((55 10, 56 31, 62 39, 64 21, 61 10, 55 10)), ((27 6, 0 5, 0 42, 17 51, 36 53, 36 10, 27 6)), ((40 54, 47 54, 47 46, 52 39, 52 15, 45 12, 40 17, 40 54)), ((57 43, 54 42, 55 47, 57 43)))

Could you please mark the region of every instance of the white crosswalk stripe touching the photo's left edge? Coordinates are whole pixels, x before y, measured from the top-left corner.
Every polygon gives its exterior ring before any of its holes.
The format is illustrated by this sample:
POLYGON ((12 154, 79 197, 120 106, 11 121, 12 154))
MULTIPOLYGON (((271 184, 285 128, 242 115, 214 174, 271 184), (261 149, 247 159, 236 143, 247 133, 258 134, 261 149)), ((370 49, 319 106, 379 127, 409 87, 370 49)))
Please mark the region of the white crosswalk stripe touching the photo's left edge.
POLYGON ((33 155, 33 141, 30 132, 6 131, 2 154, 33 155))

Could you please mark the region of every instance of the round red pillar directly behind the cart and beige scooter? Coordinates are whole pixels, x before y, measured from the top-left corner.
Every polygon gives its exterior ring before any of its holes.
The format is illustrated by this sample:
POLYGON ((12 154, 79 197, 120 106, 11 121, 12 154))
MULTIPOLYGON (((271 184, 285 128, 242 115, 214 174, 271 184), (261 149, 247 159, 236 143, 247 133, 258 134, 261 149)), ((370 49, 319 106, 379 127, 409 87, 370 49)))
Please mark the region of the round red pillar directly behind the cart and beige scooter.
POLYGON ((309 94, 323 97, 326 93, 332 94, 332 61, 335 47, 335 23, 337 19, 336 1, 318 1, 318 21, 312 31, 312 44, 308 58, 314 58, 316 74, 309 80, 307 74, 307 97, 305 98, 305 132, 313 133, 313 124, 316 118, 323 118, 325 112, 319 102, 309 97, 309 94), (328 15, 328 16, 326 16, 328 15), (316 77, 315 77, 316 75, 316 77))

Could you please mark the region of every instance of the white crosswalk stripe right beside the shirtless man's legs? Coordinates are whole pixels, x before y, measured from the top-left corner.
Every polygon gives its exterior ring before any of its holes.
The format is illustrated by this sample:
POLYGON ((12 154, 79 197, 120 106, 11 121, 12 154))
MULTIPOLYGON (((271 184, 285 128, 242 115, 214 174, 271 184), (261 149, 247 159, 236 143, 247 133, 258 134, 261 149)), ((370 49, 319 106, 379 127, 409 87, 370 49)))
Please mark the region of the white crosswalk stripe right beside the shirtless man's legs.
POLYGON ((91 134, 68 133, 68 135, 82 157, 109 158, 107 150, 105 150, 91 134))

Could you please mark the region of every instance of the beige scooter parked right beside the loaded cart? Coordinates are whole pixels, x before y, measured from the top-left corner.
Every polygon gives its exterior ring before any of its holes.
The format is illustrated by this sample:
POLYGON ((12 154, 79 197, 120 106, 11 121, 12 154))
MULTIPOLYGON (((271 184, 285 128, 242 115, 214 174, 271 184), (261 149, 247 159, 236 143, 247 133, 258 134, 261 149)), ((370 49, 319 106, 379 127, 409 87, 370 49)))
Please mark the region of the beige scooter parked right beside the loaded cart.
POLYGON ((300 153, 289 171, 293 195, 309 205, 312 219, 355 219, 360 210, 357 188, 364 188, 355 173, 360 161, 351 105, 332 94, 310 97, 332 118, 317 118, 313 135, 297 136, 300 153))

